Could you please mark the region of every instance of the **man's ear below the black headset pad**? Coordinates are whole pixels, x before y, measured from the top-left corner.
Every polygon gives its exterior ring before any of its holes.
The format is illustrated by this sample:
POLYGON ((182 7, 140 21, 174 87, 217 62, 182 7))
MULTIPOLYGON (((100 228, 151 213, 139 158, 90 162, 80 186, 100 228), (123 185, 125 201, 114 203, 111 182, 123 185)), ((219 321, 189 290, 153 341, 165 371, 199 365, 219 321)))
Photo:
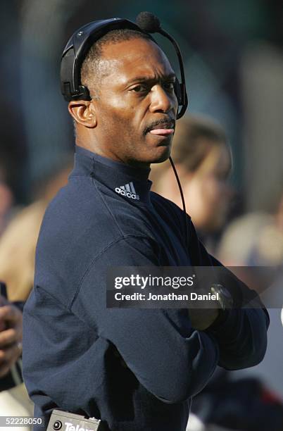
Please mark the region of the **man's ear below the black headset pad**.
POLYGON ((68 104, 68 111, 73 119, 84 127, 96 127, 96 112, 92 101, 73 100, 68 104))

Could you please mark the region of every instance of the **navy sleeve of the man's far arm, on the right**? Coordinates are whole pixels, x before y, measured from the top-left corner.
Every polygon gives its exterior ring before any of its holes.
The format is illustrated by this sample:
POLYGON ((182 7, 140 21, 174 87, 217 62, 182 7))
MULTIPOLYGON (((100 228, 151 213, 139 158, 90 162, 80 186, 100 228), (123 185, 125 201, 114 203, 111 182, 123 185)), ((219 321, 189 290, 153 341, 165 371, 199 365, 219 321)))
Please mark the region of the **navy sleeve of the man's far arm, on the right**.
POLYGON ((208 254, 191 221, 189 226, 189 250, 193 266, 221 266, 220 284, 229 290, 234 300, 233 308, 206 330, 218 341, 218 365, 227 370, 256 366, 263 360, 267 347, 268 311, 254 290, 208 254))

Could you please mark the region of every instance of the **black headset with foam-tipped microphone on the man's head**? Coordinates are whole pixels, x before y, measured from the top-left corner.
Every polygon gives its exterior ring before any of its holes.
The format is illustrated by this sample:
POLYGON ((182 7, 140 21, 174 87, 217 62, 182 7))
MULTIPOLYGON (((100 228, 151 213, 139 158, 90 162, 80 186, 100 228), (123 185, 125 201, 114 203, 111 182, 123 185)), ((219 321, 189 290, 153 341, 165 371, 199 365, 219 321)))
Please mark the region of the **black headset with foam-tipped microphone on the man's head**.
POLYGON ((89 51, 96 40, 100 39, 111 30, 120 29, 137 30, 138 32, 146 34, 155 43, 156 41, 151 37, 150 33, 159 32, 161 35, 170 39, 170 42, 172 42, 177 52, 182 77, 182 82, 176 79, 174 84, 178 105, 181 106, 180 112, 177 113, 177 119, 181 118, 188 105, 182 54, 177 42, 175 42, 167 32, 161 29, 158 18, 149 12, 139 13, 137 16, 137 24, 124 18, 93 21, 92 23, 80 27, 74 35, 70 37, 61 58, 61 92, 65 100, 91 100, 89 89, 85 85, 82 85, 80 81, 82 62, 87 55, 87 51, 89 51))

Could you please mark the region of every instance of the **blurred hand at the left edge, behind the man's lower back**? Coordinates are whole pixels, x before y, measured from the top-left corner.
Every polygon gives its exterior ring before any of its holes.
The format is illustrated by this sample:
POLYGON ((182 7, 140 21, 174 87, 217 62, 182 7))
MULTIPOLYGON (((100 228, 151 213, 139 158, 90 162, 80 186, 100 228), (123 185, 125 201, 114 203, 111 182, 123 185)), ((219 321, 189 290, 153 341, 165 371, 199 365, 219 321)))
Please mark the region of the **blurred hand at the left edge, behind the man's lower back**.
POLYGON ((4 377, 22 353, 23 315, 0 296, 0 377, 4 377))

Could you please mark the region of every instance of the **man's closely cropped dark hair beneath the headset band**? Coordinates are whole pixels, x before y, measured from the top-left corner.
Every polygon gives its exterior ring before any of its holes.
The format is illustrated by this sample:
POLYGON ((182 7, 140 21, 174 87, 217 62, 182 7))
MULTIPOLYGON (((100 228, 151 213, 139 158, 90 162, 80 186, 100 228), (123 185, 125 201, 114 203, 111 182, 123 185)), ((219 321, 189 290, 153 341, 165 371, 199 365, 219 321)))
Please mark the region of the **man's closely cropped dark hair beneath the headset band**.
POLYGON ((106 71, 103 72, 103 70, 99 68, 99 62, 103 55, 103 47, 107 44, 118 44, 126 40, 138 38, 152 40, 149 35, 139 32, 138 30, 131 30, 128 28, 111 30, 94 42, 89 51, 87 51, 87 55, 82 62, 80 78, 82 85, 85 85, 89 89, 92 98, 99 98, 99 83, 102 77, 107 75, 106 71), (96 85, 94 85, 94 82, 96 82, 96 85))

